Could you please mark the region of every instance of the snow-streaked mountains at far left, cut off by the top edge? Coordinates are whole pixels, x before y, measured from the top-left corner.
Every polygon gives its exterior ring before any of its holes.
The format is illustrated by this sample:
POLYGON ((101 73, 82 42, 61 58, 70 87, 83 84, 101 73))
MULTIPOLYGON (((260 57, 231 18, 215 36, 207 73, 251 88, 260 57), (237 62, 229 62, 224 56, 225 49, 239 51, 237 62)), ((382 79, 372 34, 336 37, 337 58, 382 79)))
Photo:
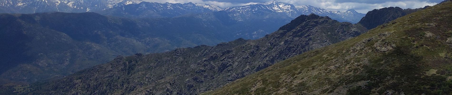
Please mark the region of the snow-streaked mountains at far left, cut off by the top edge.
POLYGON ((0 0, 1 13, 82 13, 139 4, 141 0, 0 0))

